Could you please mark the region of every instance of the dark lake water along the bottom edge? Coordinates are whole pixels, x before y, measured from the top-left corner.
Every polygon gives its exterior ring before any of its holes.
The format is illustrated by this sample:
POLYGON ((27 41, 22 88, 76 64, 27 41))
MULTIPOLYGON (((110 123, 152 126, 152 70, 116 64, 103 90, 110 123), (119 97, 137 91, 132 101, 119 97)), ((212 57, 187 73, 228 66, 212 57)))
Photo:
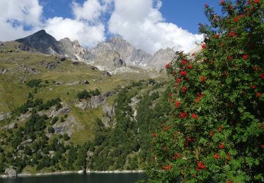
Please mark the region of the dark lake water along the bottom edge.
POLYGON ((1 179, 1 183, 132 183, 146 178, 144 173, 90 173, 87 175, 47 175, 1 179))

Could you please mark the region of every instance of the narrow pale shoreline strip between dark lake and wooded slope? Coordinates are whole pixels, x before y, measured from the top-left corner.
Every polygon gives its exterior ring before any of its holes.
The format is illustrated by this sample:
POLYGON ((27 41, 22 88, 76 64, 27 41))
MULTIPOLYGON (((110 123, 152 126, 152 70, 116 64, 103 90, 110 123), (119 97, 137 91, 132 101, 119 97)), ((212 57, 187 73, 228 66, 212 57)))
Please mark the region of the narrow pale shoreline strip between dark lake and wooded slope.
MULTIPOLYGON (((39 176, 48 176, 48 175, 69 175, 69 174, 90 174, 90 173, 102 173, 102 174, 111 174, 111 173, 143 173, 144 170, 108 170, 108 171, 97 171, 97 170, 86 170, 85 172, 83 170, 79 171, 62 171, 62 172, 42 172, 42 173, 20 173, 17 177, 39 177, 39 176)), ((0 175, 0 178, 12 178, 8 177, 7 175, 0 175)), ((14 178, 14 177, 13 177, 14 178)))

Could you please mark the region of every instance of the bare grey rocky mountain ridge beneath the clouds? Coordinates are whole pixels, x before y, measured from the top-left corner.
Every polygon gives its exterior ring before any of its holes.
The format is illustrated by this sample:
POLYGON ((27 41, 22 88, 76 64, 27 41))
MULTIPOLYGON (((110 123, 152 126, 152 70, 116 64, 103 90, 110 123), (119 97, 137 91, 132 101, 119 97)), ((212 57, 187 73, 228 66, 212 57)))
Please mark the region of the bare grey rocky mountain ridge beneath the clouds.
MULTIPOLYGON (((67 56, 74 61, 82 61, 96 66, 99 70, 118 72, 120 68, 135 66, 138 68, 161 70, 165 63, 174 58, 173 49, 161 49, 153 54, 141 49, 135 49, 129 42, 121 37, 112 37, 106 42, 99 42, 91 49, 84 49, 77 40, 64 38, 57 41, 45 30, 40 30, 28 37, 16 39, 33 51, 41 53, 67 56)), ((124 70, 123 69, 123 70, 124 70)), ((130 69, 125 69, 130 72, 130 69)))

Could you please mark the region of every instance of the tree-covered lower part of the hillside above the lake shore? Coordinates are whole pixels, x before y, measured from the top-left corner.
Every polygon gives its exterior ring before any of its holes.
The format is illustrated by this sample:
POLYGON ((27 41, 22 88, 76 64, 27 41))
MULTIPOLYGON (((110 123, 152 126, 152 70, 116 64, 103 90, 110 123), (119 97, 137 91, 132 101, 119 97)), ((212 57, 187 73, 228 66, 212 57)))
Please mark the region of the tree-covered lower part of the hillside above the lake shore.
MULTIPOLYGON (((61 170, 143 170, 148 165, 151 132, 166 120, 170 108, 168 84, 155 80, 133 82, 120 89, 113 101, 115 115, 107 124, 96 118, 94 140, 73 143, 65 133, 54 133, 54 126, 65 123, 68 110, 62 98, 36 97, 51 81, 30 80, 24 87, 31 92, 27 101, 2 120, 0 126, 0 172, 51 172, 61 170), (27 85, 27 86, 26 86, 27 85), (23 121, 23 116, 27 116, 23 121)), ((99 97, 99 89, 72 96, 75 100, 99 97)), ((38 95, 39 96, 39 95, 38 95)), ((101 97, 101 96, 100 96, 101 97)), ((64 97, 63 97, 64 98, 64 97)), ((91 99, 92 100, 92 99, 91 99)), ((74 108, 73 108, 74 110, 74 108)), ((88 113, 83 111, 82 113, 88 113)), ((80 114, 82 115, 82 114, 80 114)), ((109 115, 109 114, 106 114, 109 115)))

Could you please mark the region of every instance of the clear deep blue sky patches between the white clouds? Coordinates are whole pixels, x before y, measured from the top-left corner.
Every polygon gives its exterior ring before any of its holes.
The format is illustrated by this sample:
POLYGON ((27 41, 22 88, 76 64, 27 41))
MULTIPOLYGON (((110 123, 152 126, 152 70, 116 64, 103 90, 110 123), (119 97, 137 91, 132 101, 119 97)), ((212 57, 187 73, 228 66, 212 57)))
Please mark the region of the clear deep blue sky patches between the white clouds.
MULTIPOLYGON (((73 13, 70 10, 72 1, 40 0, 39 2, 44 6, 45 18, 52 18, 54 16, 73 18, 73 13)), ((84 0, 76 0, 76 2, 83 4, 84 0)), ((162 3, 160 11, 166 22, 174 23, 194 34, 198 33, 199 23, 207 23, 206 17, 203 15, 204 4, 213 6, 215 11, 220 11, 219 2, 213 0, 163 0, 162 3)), ((108 20, 107 17, 106 20, 108 20)))

